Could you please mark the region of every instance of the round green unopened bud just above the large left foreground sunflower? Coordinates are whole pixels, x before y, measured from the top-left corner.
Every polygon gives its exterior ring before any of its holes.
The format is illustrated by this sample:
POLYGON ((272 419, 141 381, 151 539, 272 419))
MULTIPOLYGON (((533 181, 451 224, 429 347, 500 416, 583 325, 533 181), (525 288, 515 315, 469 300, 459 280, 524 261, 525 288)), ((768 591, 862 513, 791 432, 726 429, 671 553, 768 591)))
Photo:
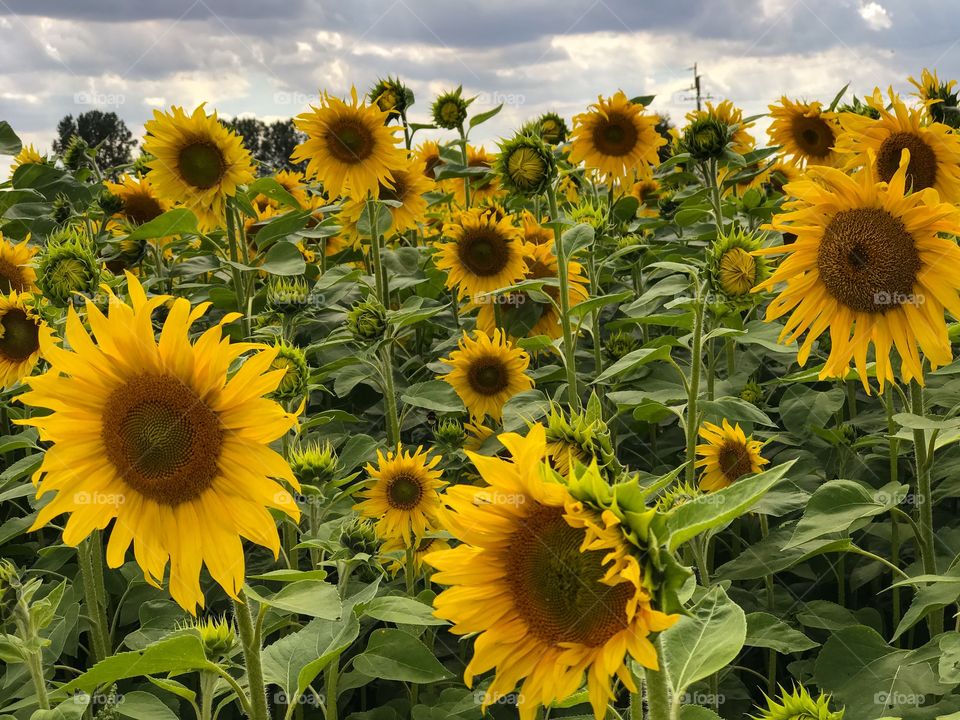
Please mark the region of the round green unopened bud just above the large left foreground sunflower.
POLYGON ((37 264, 37 285, 58 307, 66 307, 77 294, 96 294, 100 285, 96 255, 73 230, 51 237, 37 264))

